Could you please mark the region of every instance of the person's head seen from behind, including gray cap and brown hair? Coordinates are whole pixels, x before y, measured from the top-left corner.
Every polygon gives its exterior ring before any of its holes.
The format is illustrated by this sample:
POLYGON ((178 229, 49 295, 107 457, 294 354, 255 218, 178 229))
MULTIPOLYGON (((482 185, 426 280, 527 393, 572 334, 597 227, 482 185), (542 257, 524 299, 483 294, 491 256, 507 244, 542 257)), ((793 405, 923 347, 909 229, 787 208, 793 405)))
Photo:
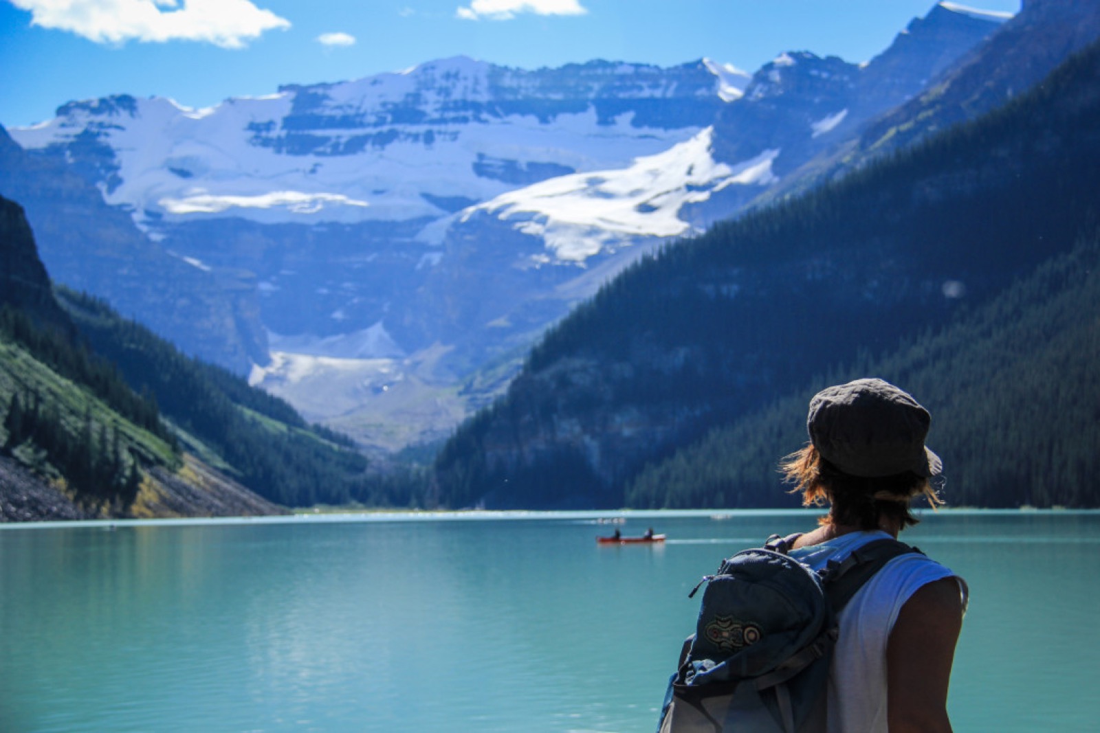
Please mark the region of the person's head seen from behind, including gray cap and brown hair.
POLYGON ((824 522, 878 529, 882 520, 916 524, 910 500, 941 503, 930 479, 939 457, 925 447, 931 415, 910 395, 881 379, 823 389, 810 401, 810 443, 781 469, 804 506, 828 503, 824 522))

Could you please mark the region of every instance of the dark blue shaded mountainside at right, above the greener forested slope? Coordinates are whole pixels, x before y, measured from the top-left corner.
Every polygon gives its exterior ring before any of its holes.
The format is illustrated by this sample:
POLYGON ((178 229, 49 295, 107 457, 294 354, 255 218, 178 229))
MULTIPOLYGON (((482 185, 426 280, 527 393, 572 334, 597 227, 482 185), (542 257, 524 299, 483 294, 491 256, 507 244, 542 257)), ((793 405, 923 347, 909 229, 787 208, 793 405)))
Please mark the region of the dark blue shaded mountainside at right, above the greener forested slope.
POLYGON ((638 264, 459 430, 440 501, 641 501, 646 465, 981 309, 1094 225, 1098 90, 1091 46, 974 123, 638 264))

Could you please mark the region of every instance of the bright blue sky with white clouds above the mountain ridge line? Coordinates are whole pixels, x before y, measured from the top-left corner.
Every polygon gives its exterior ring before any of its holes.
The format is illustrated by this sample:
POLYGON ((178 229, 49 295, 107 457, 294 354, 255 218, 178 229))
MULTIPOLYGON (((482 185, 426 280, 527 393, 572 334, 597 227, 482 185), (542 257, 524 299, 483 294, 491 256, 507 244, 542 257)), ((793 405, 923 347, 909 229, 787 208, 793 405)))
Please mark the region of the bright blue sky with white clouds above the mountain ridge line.
MULTIPOLYGON (((1016 12, 1020 0, 971 0, 1016 12)), ((784 51, 862 62, 933 0, 0 0, 0 124, 113 93, 209 107, 466 55, 754 71, 784 51)))

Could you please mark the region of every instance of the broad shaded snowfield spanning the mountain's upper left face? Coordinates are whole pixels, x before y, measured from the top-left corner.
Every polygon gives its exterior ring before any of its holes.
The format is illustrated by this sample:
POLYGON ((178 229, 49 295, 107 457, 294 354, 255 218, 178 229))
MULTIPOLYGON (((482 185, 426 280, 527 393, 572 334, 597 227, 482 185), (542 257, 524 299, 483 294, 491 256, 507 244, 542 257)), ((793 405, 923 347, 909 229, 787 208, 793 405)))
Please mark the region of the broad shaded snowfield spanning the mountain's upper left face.
MULTIPOLYGON (((350 104, 364 86, 370 82, 336 85, 328 95, 350 104)), ((283 93, 229 100, 211 113, 195 114, 154 98, 106 120, 77 109, 44 125, 13 130, 12 136, 24 147, 45 148, 72 144, 85 130, 95 130, 119 166, 118 176, 102 186, 105 199, 128 207, 140 225, 155 230, 161 221, 220 216, 262 223, 439 219, 449 212, 432 200, 485 201, 515 188, 493 176, 488 156, 498 168, 519 171, 539 165, 551 171, 596 170, 666 151, 698 132, 635 126, 632 112, 601 120, 590 108, 549 121, 512 114, 417 125, 415 134, 408 125, 392 126, 386 144, 363 143, 362 149, 344 154, 359 144, 363 130, 310 131, 320 142, 308 154, 257 144, 255 131, 285 132, 293 124, 294 104, 292 95, 283 93)))

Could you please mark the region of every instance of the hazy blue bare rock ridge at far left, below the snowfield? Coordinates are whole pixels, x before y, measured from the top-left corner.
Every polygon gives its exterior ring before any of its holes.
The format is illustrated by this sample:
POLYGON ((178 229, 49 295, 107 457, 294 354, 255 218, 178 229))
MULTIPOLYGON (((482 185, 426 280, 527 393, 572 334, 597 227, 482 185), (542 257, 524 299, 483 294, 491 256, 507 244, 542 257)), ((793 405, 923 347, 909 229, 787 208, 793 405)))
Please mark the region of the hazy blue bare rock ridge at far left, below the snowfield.
MULTIPOLYGON (((87 138, 78 148, 102 155, 87 138)), ((51 279, 109 300, 189 354, 216 354, 238 370, 266 363, 254 278, 202 270, 169 253, 85 176, 86 163, 30 155, 0 127, 0 195, 25 210, 51 279)))

